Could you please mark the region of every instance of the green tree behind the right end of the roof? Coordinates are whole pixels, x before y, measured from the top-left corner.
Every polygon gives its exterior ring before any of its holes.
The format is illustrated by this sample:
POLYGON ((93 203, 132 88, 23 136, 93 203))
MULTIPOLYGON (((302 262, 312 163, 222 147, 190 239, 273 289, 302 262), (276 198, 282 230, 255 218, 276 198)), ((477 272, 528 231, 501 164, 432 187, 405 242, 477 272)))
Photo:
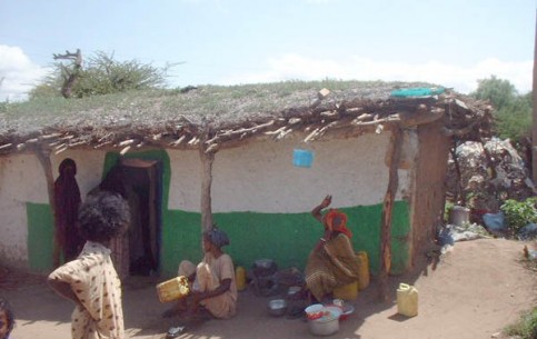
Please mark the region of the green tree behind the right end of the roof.
POLYGON ((531 138, 531 92, 519 96, 515 86, 508 80, 491 76, 489 79, 478 80, 478 88, 470 96, 493 103, 498 137, 509 138, 515 142, 531 138))

